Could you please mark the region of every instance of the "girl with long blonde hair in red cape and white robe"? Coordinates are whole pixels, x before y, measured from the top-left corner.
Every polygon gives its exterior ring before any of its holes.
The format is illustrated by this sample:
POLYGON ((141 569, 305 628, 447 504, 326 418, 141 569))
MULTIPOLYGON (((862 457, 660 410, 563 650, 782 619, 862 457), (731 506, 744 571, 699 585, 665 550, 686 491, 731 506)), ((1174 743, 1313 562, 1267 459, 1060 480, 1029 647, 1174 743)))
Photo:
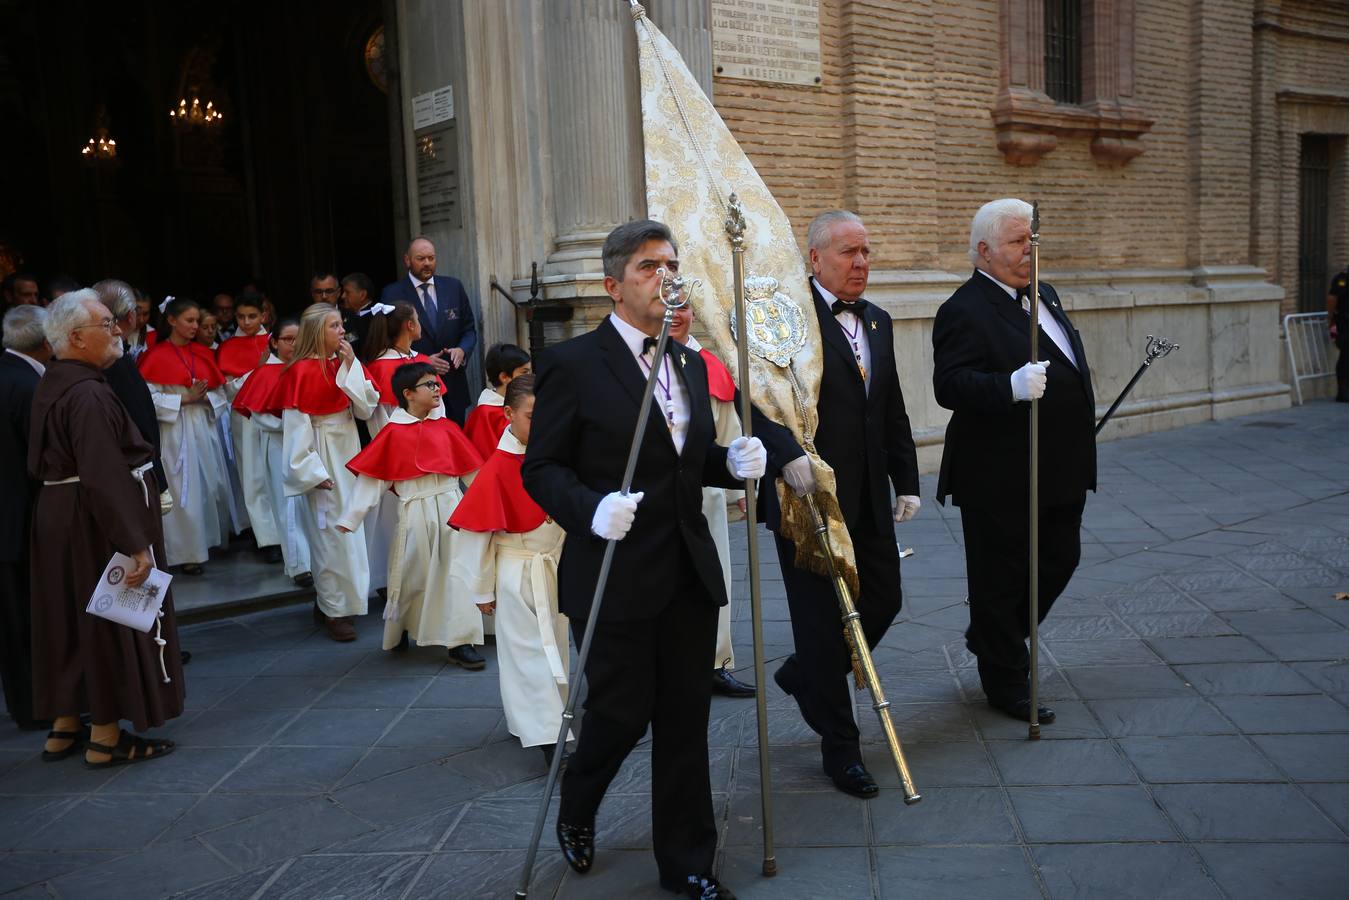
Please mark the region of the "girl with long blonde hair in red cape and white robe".
POLYGON ((304 497, 317 592, 316 618, 335 641, 356 640, 352 618, 364 615, 370 561, 364 530, 337 529, 356 479, 347 460, 360 452, 353 417, 370 418, 379 393, 366 378, 343 335, 341 313, 313 304, 299 317, 295 356, 286 364, 267 406, 281 410, 285 490, 304 497))

